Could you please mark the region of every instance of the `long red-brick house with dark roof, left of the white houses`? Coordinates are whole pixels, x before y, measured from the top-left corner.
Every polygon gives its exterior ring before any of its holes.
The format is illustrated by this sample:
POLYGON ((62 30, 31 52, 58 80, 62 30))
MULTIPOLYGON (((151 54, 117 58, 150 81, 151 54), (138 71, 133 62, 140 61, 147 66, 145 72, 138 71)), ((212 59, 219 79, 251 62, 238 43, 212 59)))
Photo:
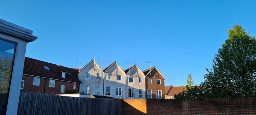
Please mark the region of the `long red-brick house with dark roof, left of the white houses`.
POLYGON ((66 94, 79 92, 79 69, 25 58, 20 92, 66 94))

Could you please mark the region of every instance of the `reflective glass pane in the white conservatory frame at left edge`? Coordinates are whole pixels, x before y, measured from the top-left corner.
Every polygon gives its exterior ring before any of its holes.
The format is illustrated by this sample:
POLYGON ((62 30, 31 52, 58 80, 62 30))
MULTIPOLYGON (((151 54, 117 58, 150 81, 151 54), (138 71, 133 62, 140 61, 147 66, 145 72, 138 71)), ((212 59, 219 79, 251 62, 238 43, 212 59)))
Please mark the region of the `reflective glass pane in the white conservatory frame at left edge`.
POLYGON ((6 114, 16 43, 0 39, 0 115, 6 114))

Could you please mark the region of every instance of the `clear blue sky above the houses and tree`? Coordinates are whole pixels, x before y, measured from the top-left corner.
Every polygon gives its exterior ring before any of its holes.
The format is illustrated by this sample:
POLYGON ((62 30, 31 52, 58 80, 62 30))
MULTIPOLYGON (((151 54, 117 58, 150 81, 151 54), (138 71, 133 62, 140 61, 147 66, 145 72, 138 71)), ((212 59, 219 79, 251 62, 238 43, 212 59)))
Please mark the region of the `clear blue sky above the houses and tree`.
POLYGON ((184 86, 188 74, 204 81, 234 24, 256 35, 256 0, 0 0, 0 18, 38 36, 27 57, 70 68, 90 55, 102 68, 151 61, 166 85, 184 86))

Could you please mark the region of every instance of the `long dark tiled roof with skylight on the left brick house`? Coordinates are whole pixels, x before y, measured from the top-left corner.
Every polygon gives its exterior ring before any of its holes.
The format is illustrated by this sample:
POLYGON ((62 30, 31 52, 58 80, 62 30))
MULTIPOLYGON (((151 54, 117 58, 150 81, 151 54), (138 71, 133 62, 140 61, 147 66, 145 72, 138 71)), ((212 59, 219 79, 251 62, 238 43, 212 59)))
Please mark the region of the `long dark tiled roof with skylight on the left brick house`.
POLYGON ((72 69, 27 57, 25 57, 23 74, 79 82, 78 69, 72 69), (44 66, 49 67, 50 70, 44 69, 44 66), (58 71, 71 73, 71 75, 66 74, 66 78, 61 78, 61 76, 58 75, 58 71))

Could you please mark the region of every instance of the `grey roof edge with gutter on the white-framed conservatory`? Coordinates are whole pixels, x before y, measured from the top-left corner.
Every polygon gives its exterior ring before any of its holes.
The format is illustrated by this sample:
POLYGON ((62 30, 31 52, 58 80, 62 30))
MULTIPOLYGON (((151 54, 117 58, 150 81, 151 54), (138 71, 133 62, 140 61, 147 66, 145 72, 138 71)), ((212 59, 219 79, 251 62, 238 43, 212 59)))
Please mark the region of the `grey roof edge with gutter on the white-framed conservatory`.
POLYGON ((0 19, 0 33, 11 35, 26 40, 27 42, 32 42, 37 39, 36 36, 32 35, 32 30, 25 29, 2 19, 0 19))

